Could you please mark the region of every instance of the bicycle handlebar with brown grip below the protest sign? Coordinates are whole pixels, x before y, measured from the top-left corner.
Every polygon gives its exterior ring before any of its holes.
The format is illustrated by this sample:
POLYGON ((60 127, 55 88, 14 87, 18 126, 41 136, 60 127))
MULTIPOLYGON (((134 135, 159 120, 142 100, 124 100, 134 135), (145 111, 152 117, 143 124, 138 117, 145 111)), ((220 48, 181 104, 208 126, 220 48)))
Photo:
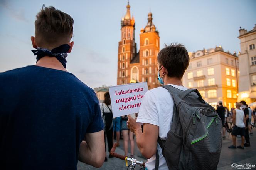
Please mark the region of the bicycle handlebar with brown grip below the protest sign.
POLYGON ((130 161, 131 164, 127 167, 127 170, 129 169, 129 167, 130 167, 130 170, 135 170, 136 164, 140 165, 140 167, 143 167, 143 168, 140 168, 140 170, 144 170, 145 169, 145 163, 144 162, 138 161, 135 158, 128 158, 126 156, 123 156, 123 155, 120 155, 118 153, 115 153, 116 147, 117 147, 117 143, 114 143, 114 145, 113 145, 113 147, 112 147, 112 149, 110 151, 110 155, 112 155, 113 157, 119 158, 121 160, 125 160, 126 167, 128 166, 128 161, 130 161))

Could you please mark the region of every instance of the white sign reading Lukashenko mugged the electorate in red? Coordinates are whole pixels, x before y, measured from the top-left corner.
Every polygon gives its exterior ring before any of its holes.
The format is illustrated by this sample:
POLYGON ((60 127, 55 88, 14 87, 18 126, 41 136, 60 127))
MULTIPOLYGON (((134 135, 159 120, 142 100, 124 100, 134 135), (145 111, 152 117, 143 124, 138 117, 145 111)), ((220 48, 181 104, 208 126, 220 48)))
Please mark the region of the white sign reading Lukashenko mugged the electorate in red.
POLYGON ((109 87, 113 117, 138 113, 147 91, 147 82, 109 87))

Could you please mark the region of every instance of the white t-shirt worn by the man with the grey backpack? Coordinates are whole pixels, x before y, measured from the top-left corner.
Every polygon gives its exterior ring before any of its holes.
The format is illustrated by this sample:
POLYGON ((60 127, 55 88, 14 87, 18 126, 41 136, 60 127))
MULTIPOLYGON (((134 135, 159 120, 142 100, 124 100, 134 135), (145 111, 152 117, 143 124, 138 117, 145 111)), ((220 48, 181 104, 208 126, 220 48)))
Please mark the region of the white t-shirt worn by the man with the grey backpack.
MULTIPOLYGON (((187 88, 183 86, 169 85, 180 90, 187 90, 187 88)), ((167 133, 171 128, 173 105, 173 98, 165 88, 158 87, 148 90, 142 99, 136 122, 157 125, 159 127, 159 137, 162 140, 166 140, 167 133)), ((159 170, 168 170, 162 149, 158 143, 157 150, 159 153, 159 170)), ((148 159, 145 164, 148 170, 155 169, 155 159, 155 155, 148 159)))

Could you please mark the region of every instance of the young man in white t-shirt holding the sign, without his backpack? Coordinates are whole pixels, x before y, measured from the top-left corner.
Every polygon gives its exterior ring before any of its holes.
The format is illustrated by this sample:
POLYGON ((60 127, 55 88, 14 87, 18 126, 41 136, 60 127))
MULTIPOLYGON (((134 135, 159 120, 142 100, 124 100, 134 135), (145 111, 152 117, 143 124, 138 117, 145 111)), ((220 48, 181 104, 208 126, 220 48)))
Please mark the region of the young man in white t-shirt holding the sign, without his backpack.
MULTIPOLYGON (((159 63, 158 80, 162 85, 171 85, 186 90, 182 85, 182 76, 189 65, 189 55, 182 44, 171 44, 163 48, 157 57, 159 63)), ((157 143, 158 136, 166 140, 173 115, 173 98, 168 90, 162 87, 148 90, 145 93, 138 117, 129 116, 128 128, 135 133, 136 142, 142 155, 148 159, 145 164, 148 170, 155 169, 156 151, 159 153, 159 170, 168 170, 162 149, 157 143), (141 130, 143 125, 143 132, 141 130)))

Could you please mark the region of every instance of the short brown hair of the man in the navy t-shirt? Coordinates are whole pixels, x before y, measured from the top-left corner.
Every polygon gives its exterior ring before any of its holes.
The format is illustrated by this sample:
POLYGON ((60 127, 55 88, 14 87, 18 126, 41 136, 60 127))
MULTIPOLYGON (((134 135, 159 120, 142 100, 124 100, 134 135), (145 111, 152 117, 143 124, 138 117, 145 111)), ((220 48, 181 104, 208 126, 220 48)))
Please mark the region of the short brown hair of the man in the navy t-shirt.
POLYGON ((54 7, 42 7, 35 20, 35 40, 39 47, 57 47, 70 41, 74 20, 54 7))

